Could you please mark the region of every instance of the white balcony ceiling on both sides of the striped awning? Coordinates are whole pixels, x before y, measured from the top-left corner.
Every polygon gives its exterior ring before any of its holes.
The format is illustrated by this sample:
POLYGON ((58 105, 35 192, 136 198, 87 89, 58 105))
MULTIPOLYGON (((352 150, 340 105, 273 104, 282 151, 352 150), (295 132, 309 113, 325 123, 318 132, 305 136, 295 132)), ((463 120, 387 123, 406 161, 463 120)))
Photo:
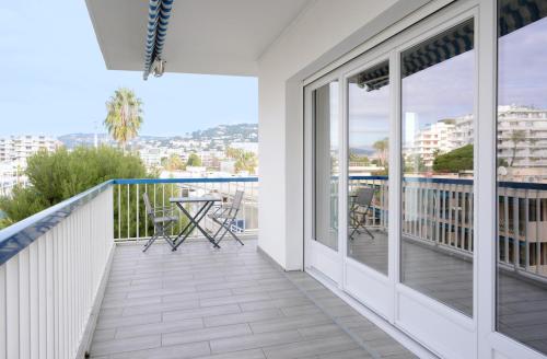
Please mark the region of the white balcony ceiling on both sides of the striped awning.
MULTIPOLYGON (((311 0, 175 0, 167 72, 256 76, 256 61, 311 0)), ((86 0, 110 70, 143 70, 147 0, 86 0)))

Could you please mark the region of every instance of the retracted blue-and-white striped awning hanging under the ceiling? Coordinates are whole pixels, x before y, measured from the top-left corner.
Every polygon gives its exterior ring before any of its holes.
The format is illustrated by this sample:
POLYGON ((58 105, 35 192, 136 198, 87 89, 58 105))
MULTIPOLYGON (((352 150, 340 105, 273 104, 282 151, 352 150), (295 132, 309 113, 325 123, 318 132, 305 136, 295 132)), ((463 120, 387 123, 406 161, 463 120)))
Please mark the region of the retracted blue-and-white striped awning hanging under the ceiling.
POLYGON ((149 2, 147 46, 144 54, 144 80, 148 79, 150 72, 155 72, 160 76, 163 72, 162 51, 167 36, 167 25, 173 1, 174 0, 150 0, 149 2))

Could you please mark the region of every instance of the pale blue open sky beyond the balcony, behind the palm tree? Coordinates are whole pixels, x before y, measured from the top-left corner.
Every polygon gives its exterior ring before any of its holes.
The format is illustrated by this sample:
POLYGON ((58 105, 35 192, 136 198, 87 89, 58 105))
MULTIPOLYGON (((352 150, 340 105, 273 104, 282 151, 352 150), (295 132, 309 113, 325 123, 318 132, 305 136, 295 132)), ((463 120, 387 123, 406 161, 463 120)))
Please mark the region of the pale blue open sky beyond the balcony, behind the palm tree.
POLYGON ((142 135, 258 121, 256 78, 143 81, 142 72, 106 70, 83 0, 0 1, 0 137, 104 132, 105 102, 120 86, 143 102, 142 135))

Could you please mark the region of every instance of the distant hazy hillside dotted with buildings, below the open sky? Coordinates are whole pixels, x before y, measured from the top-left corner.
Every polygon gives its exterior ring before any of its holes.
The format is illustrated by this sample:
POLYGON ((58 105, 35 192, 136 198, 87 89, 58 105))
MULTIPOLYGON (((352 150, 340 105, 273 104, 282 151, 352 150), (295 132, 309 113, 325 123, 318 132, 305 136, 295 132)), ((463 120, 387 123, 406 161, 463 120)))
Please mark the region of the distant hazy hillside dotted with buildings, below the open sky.
MULTIPOLYGON (((167 144, 172 140, 191 138, 198 141, 211 139, 224 139, 226 141, 247 141, 258 142, 258 124, 238 124, 238 125, 219 125, 203 130, 197 130, 191 134, 177 136, 139 136, 131 143, 158 141, 160 144, 167 144)), ((78 146, 93 146, 95 143, 94 134, 69 134, 58 137, 67 148, 78 146)), ((97 135, 98 143, 115 144, 107 134, 97 135)))

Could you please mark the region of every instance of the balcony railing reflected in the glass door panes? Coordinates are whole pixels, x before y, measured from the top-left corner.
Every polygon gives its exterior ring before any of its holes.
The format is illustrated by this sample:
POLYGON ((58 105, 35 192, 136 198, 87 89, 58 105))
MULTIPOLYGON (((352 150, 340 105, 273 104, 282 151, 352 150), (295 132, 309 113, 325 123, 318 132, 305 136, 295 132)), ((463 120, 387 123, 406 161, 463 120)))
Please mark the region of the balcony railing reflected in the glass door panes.
MULTIPOLYGON (((351 176, 349 186, 375 188, 368 225, 387 229, 387 177, 351 176)), ((547 281, 547 184, 501 182, 498 195, 500 266, 547 281)), ((472 180, 407 177, 401 198, 405 239, 473 256, 472 180)))

